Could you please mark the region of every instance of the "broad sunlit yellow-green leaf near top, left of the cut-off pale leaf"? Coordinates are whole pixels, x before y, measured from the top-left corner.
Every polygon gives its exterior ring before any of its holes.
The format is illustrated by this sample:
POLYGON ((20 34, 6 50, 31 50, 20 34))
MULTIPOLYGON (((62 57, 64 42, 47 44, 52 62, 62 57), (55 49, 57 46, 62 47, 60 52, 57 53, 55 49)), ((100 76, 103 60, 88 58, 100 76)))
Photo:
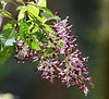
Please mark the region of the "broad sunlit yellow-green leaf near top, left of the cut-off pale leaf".
MULTIPOLYGON (((34 3, 33 3, 34 4, 34 3)), ((34 16, 38 16, 38 14, 39 14, 39 9, 38 8, 36 8, 35 5, 31 5, 31 4, 28 4, 27 5, 27 11, 28 12, 31 12, 34 16)))

